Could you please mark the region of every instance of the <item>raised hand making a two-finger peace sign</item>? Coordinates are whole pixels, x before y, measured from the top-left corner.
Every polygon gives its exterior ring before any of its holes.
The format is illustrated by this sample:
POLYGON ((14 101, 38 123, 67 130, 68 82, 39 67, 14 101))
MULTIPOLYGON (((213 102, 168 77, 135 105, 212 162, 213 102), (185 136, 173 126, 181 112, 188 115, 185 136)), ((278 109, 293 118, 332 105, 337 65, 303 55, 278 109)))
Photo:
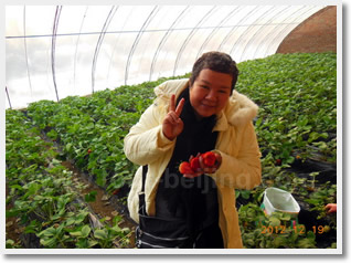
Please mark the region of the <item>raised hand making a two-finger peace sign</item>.
POLYGON ((181 132, 183 132, 184 123, 179 116, 183 111, 184 103, 184 98, 180 99, 176 108, 176 95, 173 94, 171 96, 168 114, 166 115, 162 123, 163 135, 169 140, 173 140, 178 135, 181 134, 181 132))

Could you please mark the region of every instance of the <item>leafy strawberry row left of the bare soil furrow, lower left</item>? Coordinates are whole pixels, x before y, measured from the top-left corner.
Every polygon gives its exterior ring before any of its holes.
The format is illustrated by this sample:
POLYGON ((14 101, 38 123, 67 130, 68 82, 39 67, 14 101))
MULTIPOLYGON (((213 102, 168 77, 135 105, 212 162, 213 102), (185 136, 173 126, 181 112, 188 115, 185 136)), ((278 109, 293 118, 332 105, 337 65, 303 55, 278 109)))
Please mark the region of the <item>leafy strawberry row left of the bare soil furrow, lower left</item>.
MULTIPOLYGON (((56 157, 53 145, 42 140, 21 112, 7 111, 7 204, 12 204, 7 218, 18 218, 22 239, 34 235, 39 248, 115 248, 113 239, 126 236, 129 230, 118 229, 118 220, 107 240, 96 241, 89 212, 76 202, 72 172, 56 157)), ((8 239, 7 248, 21 244, 8 239)))

